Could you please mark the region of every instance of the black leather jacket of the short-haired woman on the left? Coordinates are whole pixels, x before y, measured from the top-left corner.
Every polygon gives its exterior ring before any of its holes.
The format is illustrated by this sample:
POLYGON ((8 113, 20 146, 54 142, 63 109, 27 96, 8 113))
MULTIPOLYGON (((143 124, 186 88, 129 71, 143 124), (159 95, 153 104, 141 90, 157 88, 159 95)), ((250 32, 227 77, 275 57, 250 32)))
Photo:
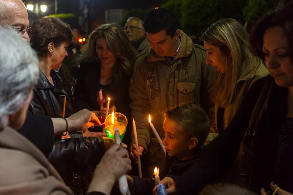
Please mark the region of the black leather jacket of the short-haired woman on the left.
MULTIPOLYGON (((34 88, 28 114, 62 117, 66 96, 65 117, 71 116, 73 97, 62 74, 52 70, 55 87, 40 70, 40 77, 34 88)), ((86 194, 93 171, 105 153, 103 138, 83 138, 81 132, 70 132, 69 139, 56 140, 53 150, 47 154, 49 162, 62 176, 75 195, 86 194), (75 137, 75 138, 73 138, 75 137)))

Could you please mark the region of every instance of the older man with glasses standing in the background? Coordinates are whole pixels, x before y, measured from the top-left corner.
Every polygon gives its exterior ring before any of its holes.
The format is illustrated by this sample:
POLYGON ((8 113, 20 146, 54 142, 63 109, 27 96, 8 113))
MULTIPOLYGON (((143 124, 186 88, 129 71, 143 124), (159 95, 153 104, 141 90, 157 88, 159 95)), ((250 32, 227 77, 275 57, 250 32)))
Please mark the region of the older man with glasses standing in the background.
POLYGON ((124 26, 124 31, 129 41, 138 53, 149 50, 150 48, 149 41, 146 39, 146 31, 143 24, 143 20, 137 17, 130 17, 127 19, 124 26))

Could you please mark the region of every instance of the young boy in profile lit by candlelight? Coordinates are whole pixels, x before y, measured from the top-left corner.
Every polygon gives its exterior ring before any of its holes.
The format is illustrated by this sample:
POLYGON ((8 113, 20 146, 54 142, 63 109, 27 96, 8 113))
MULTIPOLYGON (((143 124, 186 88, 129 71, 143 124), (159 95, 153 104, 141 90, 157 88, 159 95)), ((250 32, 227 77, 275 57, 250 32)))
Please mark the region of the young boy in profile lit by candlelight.
MULTIPOLYGON (((168 156, 174 157, 168 175, 180 176, 199 156, 209 134, 209 118, 202 108, 192 103, 167 110, 164 118, 163 144, 168 156)), ((131 195, 152 195, 154 180, 127 176, 127 181, 131 195)))

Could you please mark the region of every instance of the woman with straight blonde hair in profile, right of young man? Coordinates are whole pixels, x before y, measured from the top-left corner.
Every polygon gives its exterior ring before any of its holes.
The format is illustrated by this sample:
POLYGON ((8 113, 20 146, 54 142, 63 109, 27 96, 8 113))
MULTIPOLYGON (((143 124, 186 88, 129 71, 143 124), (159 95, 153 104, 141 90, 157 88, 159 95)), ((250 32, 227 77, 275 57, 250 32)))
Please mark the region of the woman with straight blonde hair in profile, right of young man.
POLYGON ((250 53, 249 34, 234 19, 213 23, 201 39, 207 52, 207 64, 217 68, 211 95, 215 102, 211 131, 219 134, 237 113, 253 82, 268 75, 268 71, 262 60, 250 53))

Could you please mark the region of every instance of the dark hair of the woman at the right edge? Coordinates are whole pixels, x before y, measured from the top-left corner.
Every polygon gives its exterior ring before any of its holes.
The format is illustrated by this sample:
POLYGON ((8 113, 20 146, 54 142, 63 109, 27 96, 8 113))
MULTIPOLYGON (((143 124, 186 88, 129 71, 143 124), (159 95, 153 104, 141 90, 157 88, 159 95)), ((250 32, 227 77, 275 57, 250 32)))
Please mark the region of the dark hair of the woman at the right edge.
POLYGON ((264 18, 258 21, 251 32, 251 53, 265 60, 262 51, 264 34, 267 29, 274 26, 282 27, 289 42, 289 56, 293 62, 293 4, 281 4, 275 10, 269 12, 264 18))

